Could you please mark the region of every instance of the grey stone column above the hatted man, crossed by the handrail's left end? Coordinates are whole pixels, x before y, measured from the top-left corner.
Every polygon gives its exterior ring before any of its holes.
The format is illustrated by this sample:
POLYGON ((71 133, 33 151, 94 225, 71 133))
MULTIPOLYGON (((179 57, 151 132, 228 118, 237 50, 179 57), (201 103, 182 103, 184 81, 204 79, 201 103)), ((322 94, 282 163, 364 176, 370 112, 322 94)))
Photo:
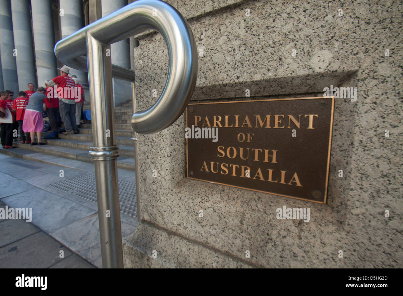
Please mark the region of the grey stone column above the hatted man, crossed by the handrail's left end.
MULTIPOLYGON (((62 38, 67 37, 84 27, 82 0, 60 0, 60 9, 62 9, 60 13, 62 38)), ((86 97, 89 98, 87 73, 80 70, 71 69, 70 74, 77 76, 84 87, 86 97)))

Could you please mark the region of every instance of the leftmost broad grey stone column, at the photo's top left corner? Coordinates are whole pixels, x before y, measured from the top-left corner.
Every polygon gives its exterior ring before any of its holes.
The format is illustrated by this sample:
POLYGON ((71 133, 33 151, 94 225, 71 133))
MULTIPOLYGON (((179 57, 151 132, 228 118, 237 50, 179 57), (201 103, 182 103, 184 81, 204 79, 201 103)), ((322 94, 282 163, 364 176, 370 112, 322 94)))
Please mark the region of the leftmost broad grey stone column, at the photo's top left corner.
POLYGON ((17 64, 15 62, 10 0, 0 0, 0 54, 4 89, 18 93, 17 64))

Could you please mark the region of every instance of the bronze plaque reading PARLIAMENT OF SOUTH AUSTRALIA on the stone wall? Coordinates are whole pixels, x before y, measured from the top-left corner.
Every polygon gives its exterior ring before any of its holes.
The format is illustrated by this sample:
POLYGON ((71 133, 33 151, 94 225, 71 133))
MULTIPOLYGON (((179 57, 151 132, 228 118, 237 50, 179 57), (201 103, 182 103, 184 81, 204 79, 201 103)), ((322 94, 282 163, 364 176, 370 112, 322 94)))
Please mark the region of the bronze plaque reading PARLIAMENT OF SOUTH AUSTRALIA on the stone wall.
POLYGON ((326 203, 334 98, 189 104, 187 177, 326 203))

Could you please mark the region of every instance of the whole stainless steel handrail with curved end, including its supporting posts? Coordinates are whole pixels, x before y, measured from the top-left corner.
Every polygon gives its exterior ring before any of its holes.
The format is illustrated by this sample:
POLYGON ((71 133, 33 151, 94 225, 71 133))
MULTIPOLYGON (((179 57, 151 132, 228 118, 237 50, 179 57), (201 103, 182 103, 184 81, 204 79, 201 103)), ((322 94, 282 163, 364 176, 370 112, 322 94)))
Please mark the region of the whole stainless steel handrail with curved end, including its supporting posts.
MULTIPOLYGON (((89 155, 95 160, 102 266, 123 267, 112 76, 132 82, 132 139, 139 187, 137 133, 159 132, 185 110, 197 79, 196 42, 188 23, 175 8, 160 0, 138 0, 60 40, 54 50, 67 66, 88 72, 93 135, 89 155), (151 108, 136 112, 134 71, 112 65, 106 53, 110 44, 148 29, 164 37, 169 56, 168 77, 158 101, 151 108)), ((139 205, 139 196, 137 201, 139 205)))

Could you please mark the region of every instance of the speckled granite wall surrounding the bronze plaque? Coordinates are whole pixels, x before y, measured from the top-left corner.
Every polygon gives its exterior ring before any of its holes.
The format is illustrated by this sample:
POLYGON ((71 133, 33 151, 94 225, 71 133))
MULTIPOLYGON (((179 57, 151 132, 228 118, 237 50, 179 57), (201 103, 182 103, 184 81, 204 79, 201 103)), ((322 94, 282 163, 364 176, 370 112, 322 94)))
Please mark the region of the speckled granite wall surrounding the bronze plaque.
MULTIPOLYGON (((124 241, 125 267, 403 267, 402 3, 168 3, 197 42, 193 102, 323 96, 330 85, 357 87, 357 100, 335 100, 326 205, 187 179, 184 114, 140 135, 143 220, 124 241), (276 219, 284 205, 309 207, 310 222, 276 219)), ((157 33, 139 42, 144 110, 162 92, 168 56, 157 33)))

